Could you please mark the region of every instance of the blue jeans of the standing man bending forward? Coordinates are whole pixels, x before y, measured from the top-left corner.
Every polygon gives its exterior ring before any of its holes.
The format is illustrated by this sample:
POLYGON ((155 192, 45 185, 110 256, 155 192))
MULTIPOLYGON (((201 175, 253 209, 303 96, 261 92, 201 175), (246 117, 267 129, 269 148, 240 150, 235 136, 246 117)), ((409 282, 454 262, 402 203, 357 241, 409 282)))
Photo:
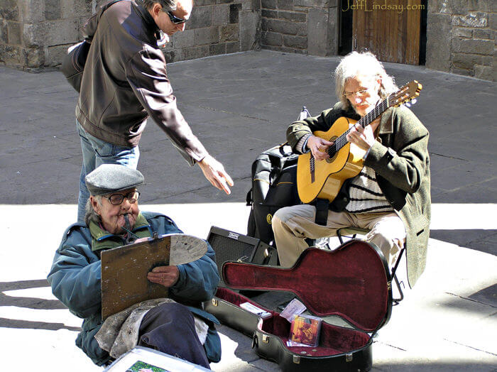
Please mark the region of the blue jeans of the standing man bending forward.
POLYGON ((80 175, 80 196, 77 199, 77 221, 84 222, 84 207, 89 198, 89 191, 84 182, 84 177, 101 164, 121 164, 136 169, 140 150, 138 146, 119 146, 114 143, 102 141, 84 131, 79 122, 76 122, 77 133, 81 139, 83 164, 80 175))

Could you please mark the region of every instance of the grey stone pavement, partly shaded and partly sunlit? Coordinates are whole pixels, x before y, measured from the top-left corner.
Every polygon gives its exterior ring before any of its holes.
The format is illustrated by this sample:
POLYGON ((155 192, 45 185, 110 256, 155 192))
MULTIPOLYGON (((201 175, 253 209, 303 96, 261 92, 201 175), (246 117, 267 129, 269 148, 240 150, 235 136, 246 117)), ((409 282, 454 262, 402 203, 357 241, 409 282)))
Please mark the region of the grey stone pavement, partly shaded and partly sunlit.
MULTIPOLYGON (((141 140, 141 208, 188 234, 246 232, 251 163, 285 141, 302 105, 331 106, 339 58, 269 51, 177 62, 168 72, 194 133, 234 178, 231 196, 189 168, 150 123, 141 140)), ((413 111, 430 130, 432 233, 425 273, 393 307, 373 346, 373 371, 497 371, 496 84, 386 63, 399 85, 423 89, 413 111)), ((81 321, 45 277, 75 221, 81 157, 76 94, 60 72, 0 67, 0 355, 2 371, 100 371, 74 340, 81 321)), ((251 340, 219 328, 214 371, 277 371, 251 340)))

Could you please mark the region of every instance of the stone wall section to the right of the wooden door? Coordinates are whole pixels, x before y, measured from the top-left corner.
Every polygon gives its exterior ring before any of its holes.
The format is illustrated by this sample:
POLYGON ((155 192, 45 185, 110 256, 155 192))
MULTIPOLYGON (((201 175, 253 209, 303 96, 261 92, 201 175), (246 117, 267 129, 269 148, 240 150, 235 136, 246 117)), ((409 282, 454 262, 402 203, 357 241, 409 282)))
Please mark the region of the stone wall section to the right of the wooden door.
POLYGON ((426 66, 497 81, 496 0, 428 1, 426 66))

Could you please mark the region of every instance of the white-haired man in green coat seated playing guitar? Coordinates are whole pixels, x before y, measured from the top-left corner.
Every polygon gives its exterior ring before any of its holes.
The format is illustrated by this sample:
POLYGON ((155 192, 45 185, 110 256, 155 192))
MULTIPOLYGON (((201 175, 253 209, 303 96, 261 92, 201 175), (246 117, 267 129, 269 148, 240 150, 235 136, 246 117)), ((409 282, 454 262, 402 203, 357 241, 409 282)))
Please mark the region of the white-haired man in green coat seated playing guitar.
MULTIPOLYGON (((397 90, 393 77, 371 53, 346 55, 334 72, 340 102, 320 116, 295 121, 287 131, 297 153, 312 152, 318 161, 328 158, 331 142, 313 136, 328 131, 341 116, 358 120, 397 90)), ((342 212, 329 211, 326 226, 315 223, 310 204, 279 209, 273 231, 282 266, 292 266, 307 248, 306 238, 333 236, 337 229, 370 229, 366 240, 381 249, 389 266, 403 246, 407 251, 408 279, 412 287, 426 266, 430 235, 429 133, 410 109, 390 108, 366 128, 354 127, 347 140, 366 151, 364 168, 350 180, 349 203, 342 212)))

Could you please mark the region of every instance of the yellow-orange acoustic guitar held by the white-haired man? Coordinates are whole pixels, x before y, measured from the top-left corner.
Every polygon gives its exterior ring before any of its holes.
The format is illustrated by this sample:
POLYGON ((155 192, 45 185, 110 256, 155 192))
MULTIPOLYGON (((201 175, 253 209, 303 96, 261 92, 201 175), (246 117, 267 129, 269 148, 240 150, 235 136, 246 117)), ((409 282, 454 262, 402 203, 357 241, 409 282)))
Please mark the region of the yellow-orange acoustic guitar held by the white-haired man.
POLYGON ((342 116, 333 123, 328 131, 312 133, 334 143, 327 149, 329 159, 317 161, 310 152, 299 155, 297 160, 297 192, 300 200, 304 203, 310 203, 319 198, 332 202, 337 197, 345 180, 359 175, 364 166, 366 151, 353 143, 349 143, 346 139, 351 127, 359 123, 365 128, 389 107, 400 106, 400 104, 418 97, 421 89, 422 85, 413 80, 383 99, 359 121, 342 116))

